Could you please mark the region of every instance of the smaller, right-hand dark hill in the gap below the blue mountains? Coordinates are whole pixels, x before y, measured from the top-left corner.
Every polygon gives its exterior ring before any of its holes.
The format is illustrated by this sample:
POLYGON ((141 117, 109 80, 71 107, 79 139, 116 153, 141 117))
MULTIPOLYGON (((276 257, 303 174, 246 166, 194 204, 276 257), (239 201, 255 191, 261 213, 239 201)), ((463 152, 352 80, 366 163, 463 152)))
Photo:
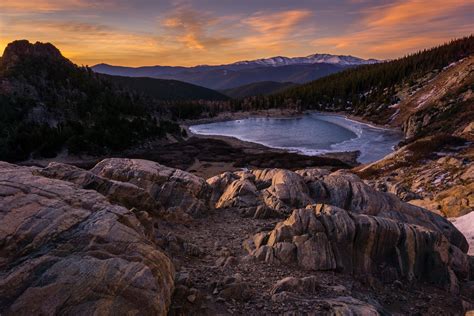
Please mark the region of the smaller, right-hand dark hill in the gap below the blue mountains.
POLYGON ((220 92, 225 95, 228 95, 229 97, 238 99, 255 95, 269 95, 288 89, 290 87, 294 87, 295 85, 296 83, 293 82, 261 81, 250 83, 240 87, 221 90, 220 92))

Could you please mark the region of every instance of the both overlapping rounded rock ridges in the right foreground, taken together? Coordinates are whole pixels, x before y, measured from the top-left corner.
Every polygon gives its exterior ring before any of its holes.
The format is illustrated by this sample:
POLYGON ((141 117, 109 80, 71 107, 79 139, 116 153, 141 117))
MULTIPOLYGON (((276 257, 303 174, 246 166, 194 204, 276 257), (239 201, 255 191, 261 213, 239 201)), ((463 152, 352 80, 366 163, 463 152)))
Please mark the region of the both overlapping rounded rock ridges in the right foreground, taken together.
POLYGON ((264 169, 227 173, 208 183, 223 192, 216 208, 294 210, 273 231, 245 243, 257 260, 388 282, 421 280, 453 292, 458 280, 468 278, 468 244, 449 221, 356 175, 264 169))

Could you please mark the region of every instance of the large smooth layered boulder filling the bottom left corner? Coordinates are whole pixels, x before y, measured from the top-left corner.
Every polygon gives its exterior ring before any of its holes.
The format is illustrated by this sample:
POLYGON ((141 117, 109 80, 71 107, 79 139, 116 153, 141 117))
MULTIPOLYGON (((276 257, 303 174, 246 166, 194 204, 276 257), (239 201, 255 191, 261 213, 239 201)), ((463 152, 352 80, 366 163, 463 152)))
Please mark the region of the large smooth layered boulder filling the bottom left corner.
POLYGON ((146 218, 33 171, 0 163, 0 313, 165 315, 174 268, 146 218))

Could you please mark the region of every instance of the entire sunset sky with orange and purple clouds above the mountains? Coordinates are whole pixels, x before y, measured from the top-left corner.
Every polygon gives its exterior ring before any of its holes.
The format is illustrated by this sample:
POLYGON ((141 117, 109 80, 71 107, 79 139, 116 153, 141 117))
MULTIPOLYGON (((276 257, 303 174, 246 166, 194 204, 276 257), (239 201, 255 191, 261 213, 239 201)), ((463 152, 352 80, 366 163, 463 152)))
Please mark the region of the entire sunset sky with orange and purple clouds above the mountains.
POLYGON ((473 30, 474 0, 0 0, 0 51, 50 42, 89 66, 392 59, 473 30))

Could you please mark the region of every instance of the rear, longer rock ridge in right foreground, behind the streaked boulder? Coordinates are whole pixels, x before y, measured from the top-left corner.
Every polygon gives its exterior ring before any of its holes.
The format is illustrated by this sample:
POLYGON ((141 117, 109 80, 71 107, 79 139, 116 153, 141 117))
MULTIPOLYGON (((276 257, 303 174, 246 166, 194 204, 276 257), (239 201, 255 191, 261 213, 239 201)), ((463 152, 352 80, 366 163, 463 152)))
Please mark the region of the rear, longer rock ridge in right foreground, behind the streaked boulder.
POLYGON ((444 235, 467 252, 464 236, 445 218, 379 192, 356 175, 319 169, 292 172, 282 169, 226 173, 208 180, 214 192, 223 192, 215 207, 248 208, 265 205, 289 214, 292 209, 324 203, 355 214, 366 214, 395 222, 419 225, 444 235))

